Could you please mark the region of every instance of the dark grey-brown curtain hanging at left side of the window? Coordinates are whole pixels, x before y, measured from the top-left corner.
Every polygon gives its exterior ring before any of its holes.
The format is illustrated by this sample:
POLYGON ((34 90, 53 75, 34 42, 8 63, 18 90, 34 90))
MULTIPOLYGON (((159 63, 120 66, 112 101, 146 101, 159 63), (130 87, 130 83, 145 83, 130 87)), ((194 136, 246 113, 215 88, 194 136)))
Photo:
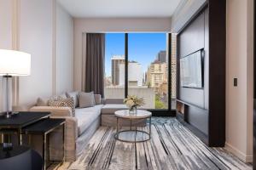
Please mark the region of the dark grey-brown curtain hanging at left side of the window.
POLYGON ((105 34, 84 33, 83 46, 82 88, 104 97, 105 34))

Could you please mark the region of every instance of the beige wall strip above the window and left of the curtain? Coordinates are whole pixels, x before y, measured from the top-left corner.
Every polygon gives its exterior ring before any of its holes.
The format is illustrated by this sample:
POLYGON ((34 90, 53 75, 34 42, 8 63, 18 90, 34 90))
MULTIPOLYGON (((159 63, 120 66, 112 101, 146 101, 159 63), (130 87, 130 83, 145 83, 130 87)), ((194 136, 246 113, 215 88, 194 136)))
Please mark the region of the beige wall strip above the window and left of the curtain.
MULTIPOLYGON (((169 18, 119 18, 119 19, 75 19, 74 20, 74 89, 82 89, 82 42, 83 32, 169 32, 169 18)), ((85 52, 84 52, 85 53, 85 52)))

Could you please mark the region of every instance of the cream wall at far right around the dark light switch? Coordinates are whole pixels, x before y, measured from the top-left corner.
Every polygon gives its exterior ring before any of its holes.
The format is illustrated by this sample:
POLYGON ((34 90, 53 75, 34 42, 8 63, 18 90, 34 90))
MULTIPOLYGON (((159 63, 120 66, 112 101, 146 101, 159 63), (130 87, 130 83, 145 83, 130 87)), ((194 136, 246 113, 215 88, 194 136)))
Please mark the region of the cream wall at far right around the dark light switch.
POLYGON ((243 161, 252 161, 253 0, 227 0, 226 45, 226 147, 243 161))

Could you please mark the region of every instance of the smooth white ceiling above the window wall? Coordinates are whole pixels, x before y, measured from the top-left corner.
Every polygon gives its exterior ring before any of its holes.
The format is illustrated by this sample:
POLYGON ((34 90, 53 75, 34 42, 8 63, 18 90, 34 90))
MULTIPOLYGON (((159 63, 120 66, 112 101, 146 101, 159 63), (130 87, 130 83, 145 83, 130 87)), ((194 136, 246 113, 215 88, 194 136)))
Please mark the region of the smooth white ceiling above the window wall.
POLYGON ((76 18, 171 17, 183 0, 58 0, 76 18))

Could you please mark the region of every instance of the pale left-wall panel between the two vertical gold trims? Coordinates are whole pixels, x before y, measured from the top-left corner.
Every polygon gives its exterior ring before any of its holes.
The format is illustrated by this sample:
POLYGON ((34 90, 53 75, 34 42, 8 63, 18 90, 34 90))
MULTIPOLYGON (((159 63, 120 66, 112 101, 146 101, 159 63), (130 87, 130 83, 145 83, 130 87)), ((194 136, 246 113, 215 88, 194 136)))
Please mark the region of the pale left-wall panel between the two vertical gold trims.
POLYGON ((32 55, 31 76, 20 77, 19 104, 53 94, 52 0, 20 1, 20 51, 32 55))

